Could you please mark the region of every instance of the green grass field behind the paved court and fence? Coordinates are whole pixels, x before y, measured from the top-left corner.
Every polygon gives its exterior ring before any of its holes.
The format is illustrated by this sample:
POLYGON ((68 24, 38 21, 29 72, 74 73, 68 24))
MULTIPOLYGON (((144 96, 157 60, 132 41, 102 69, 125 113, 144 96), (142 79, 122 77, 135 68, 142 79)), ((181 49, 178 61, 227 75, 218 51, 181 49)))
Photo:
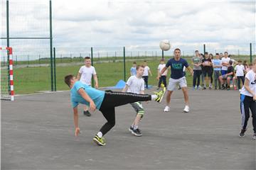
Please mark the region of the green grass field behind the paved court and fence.
MULTIPOLYGON (((137 61, 137 64, 140 64, 137 61)), ((156 86, 157 67, 159 59, 148 60, 152 77, 149 77, 149 84, 156 86)), ((63 78, 66 74, 77 74, 81 65, 56 67, 56 86, 58 91, 68 90, 63 78)), ((94 64, 100 87, 114 86, 119 79, 124 79, 123 62, 102 62, 94 64)), ((129 69, 132 61, 126 62, 126 80, 129 78, 129 69)), ((169 73, 170 75, 170 73, 169 73)), ((186 74, 188 86, 191 86, 191 76, 186 74)), ((50 67, 25 67, 14 69, 14 90, 15 94, 32 94, 38 91, 50 90, 50 67)))

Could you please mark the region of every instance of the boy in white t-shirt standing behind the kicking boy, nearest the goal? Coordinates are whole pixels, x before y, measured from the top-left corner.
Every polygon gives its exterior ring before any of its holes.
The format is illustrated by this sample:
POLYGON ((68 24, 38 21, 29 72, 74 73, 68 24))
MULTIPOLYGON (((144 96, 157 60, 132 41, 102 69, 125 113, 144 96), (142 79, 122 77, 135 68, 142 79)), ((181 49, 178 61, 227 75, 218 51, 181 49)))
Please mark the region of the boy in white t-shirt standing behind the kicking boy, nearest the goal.
MULTIPOLYGON (((92 76, 95 80, 95 88, 97 89, 99 85, 97 81, 95 67, 92 66, 92 61, 90 60, 90 57, 85 57, 85 65, 80 67, 76 78, 80 80, 82 84, 91 86, 92 76)), ((83 113, 84 115, 91 116, 91 113, 88 111, 87 106, 85 106, 83 113)))

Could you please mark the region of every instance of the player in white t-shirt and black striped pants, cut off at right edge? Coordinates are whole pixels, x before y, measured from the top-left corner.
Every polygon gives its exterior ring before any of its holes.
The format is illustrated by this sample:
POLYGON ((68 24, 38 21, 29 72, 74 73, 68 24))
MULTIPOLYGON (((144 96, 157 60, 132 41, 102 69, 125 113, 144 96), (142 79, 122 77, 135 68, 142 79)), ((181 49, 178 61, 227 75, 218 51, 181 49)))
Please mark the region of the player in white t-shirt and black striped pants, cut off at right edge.
POLYGON ((256 59, 253 60, 252 69, 245 75, 245 85, 240 92, 240 111, 242 115, 242 125, 239 137, 245 137, 247 121, 252 112, 252 126, 254 134, 252 138, 256 140, 256 59), (249 111, 250 108, 250 111, 249 111))

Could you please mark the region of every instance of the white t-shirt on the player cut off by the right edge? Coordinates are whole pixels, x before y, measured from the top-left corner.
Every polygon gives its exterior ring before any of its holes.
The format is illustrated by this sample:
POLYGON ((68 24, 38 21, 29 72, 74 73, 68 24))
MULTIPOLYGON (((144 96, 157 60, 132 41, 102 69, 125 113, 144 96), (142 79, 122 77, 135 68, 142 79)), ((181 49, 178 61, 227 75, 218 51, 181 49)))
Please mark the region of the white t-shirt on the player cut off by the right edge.
MULTIPOLYGON (((253 72, 252 70, 250 70, 249 72, 247 72, 247 74, 245 75, 245 79, 249 80, 249 88, 254 91, 254 93, 256 94, 256 73, 253 72)), ((242 90, 240 92, 240 94, 243 94, 245 96, 251 96, 252 94, 250 94, 246 89, 245 86, 242 86, 242 90)))

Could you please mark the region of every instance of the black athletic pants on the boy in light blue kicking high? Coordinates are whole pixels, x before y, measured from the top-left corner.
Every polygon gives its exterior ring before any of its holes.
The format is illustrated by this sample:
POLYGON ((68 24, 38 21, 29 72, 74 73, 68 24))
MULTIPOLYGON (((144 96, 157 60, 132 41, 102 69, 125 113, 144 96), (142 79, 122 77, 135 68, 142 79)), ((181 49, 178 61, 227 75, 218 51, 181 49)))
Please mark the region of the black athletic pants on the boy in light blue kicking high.
POLYGON ((100 111, 107 119, 107 123, 105 123, 105 125, 103 125, 100 129, 102 135, 105 135, 115 125, 115 107, 122 106, 127 103, 134 103, 137 101, 151 101, 151 95, 123 93, 118 91, 105 91, 105 97, 103 98, 102 105, 100 106, 100 111))

